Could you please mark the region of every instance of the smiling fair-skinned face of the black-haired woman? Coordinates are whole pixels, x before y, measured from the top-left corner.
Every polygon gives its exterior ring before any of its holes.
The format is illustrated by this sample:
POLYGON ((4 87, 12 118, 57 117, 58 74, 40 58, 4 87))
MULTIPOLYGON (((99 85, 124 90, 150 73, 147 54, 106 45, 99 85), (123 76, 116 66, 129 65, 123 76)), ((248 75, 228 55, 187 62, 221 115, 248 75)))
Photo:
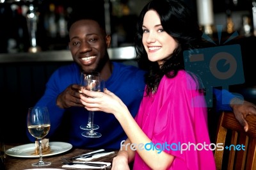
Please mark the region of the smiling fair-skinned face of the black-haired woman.
POLYGON ((142 43, 150 61, 163 64, 163 59, 170 57, 178 43, 166 33, 161 25, 159 15, 154 10, 149 10, 143 19, 142 43))

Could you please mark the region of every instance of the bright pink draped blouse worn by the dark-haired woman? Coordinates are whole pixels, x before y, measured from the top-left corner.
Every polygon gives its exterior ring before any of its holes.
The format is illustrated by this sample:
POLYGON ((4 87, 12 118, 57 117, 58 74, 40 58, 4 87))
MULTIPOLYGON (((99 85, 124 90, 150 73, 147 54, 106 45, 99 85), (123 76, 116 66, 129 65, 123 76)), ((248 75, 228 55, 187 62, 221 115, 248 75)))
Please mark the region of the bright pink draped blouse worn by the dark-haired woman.
MULTIPOLYGON (((175 157, 168 169, 216 169, 213 153, 207 150, 210 139, 204 94, 197 85, 185 71, 172 79, 164 76, 157 92, 143 98, 135 118, 157 148, 175 157), (189 143, 197 144, 198 150, 192 145, 186 150, 189 143), (204 145, 206 149, 202 149, 204 145)), ((138 153, 133 168, 150 169, 138 153)))

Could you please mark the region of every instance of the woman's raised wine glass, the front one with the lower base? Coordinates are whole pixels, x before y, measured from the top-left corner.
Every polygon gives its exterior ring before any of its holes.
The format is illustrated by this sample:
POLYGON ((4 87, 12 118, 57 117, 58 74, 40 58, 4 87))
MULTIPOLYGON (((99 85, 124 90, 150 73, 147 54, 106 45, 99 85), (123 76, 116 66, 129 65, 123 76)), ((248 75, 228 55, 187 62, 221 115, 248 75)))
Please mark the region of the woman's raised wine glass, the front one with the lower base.
MULTIPOLYGON (((83 79, 83 86, 84 88, 91 90, 91 91, 100 91, 100 84, 101 84, 101 79, 99 76, 85 76, 83 79)), ((89 111, 89 116, 90 116, 90 130, 88 132, 83 132, 82 135, 84 137, 100 137, 101 134, 99 132, 94 132, 93 128, 93 118, 94 118, 94 112, 89 111)))

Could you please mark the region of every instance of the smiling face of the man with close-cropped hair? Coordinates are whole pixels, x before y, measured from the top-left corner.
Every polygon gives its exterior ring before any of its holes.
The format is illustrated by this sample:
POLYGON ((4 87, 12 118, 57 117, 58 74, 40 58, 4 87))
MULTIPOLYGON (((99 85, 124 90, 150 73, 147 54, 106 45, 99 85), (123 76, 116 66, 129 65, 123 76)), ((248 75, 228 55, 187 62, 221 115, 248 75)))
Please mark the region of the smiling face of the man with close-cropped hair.
POLYGON ((69 38, 72 58, 82 70, 100 72, 108 58, 110 36, 94 20, 78 20, 70 27, 69 38))

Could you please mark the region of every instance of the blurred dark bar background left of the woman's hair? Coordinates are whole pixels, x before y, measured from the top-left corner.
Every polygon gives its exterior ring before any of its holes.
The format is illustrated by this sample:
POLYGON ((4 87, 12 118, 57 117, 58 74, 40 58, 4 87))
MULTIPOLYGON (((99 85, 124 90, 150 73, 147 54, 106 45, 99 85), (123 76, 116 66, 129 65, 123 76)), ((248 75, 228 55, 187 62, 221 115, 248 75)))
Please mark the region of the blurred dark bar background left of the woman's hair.
MULTIPOLYGON (((94 0, 97 7, 91 6, 91 1, 76 0, 34 0, 14 1, 2 0, 0 3, 0 52, 28 52, 30 13, 36 15, 36 46, 41 50, 67 49, 68 32, 67 17, 74 6, 97 8, 106 19, 106 29, 112 35, 112 47, 129 46, 133 41, 136 18, 147 0, 94 0), (29 10, 33 6, 33 10, 29 10)), ((102 15, 99 13, 99 15, 102 15)))

